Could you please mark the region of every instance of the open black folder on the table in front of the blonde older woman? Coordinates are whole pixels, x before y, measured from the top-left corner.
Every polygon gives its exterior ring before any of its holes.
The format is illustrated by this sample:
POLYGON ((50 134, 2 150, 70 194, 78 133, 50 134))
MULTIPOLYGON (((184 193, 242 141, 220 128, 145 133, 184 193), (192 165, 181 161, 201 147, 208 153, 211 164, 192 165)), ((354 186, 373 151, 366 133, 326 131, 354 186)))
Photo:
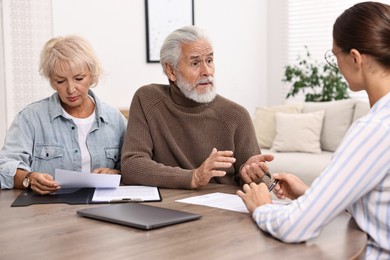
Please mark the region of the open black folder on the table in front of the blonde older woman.
MULTIPOLYGON (((120 186, 120 187, 134 187, 134 186, 120 186)), ((123 197, 122 199, 94 201, 93 197, 96 188, 72 188, 72 189, 61 189, 53 194, 39 195, 34 193, 32 190, 23 190, 19 196, 11 204, 11 207, 23 207, 30 206, 33 204, 55 204, 64 203, 69 205, 77 204, 104 204, 104 203, 126 203, 126 202, 159 202, 162 201, 160 189, 156 189, 156 195, 153 199, 143 198, 137 196, 136 198, 132 195, 123 197)))

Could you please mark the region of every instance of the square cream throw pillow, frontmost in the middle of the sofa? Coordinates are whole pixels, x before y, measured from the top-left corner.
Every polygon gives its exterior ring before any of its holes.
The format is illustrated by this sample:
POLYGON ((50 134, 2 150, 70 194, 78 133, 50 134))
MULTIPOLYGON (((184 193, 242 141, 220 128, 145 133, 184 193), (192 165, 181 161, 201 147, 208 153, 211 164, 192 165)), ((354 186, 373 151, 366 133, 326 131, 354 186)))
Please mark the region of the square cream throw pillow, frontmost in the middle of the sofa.
POLYGON ((324 111, 313 113, 276 113, 276 136, 272 151, 321 152, 321 130, 324 111))

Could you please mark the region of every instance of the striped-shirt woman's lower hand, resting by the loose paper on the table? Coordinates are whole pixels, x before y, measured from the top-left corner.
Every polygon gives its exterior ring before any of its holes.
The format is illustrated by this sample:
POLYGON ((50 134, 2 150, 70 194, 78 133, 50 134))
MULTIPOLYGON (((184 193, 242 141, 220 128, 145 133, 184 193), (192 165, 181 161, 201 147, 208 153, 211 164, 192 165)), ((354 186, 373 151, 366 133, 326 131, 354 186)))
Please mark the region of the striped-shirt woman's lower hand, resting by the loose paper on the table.
POLYGON ((257 207, 264 204, 272 204, 271 193, 269 193, 267 186, 264 183, 244 184, 243 190, 238 190, 237 195, 244 201, 246 208, 252 215, 257 207))

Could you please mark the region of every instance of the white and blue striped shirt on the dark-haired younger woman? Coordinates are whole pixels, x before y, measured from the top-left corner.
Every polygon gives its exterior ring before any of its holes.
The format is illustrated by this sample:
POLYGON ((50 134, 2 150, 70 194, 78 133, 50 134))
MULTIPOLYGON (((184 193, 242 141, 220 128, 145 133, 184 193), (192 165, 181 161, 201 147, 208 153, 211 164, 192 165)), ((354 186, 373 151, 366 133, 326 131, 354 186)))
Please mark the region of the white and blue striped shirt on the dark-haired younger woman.
POLYGON ((390 93, 350 127, 304 195, 258 207, 252 217, 260 229, 293 243, 317 236, 345 209, 368 234, 367 259, 390 259, 390 93))

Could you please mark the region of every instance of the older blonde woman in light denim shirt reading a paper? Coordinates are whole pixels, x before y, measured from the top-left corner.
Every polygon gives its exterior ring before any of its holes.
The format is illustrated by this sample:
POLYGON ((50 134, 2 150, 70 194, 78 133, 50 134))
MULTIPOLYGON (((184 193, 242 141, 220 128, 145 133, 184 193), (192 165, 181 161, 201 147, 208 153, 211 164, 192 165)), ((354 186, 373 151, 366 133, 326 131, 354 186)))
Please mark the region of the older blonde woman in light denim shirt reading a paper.
POLYGON ((42 49, 40 73, 56 91, 19 112, 0 151, 1 189, 60 188, 55 169, 120 174, 126 119, 90 90, 101 75, 81 37, 56 37, 42 49))

